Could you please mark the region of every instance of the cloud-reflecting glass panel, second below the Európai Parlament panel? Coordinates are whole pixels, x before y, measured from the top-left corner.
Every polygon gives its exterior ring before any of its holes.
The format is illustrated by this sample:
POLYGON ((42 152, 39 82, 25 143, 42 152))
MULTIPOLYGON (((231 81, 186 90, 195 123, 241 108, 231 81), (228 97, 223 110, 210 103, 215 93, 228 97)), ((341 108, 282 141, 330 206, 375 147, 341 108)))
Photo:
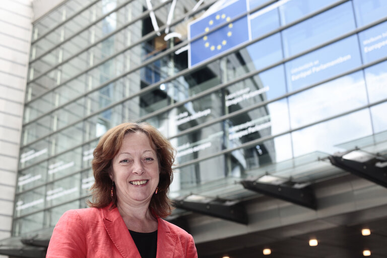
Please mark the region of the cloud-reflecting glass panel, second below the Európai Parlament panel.
POLYGON ((371 134, 369 110, 368 108, 362 109, 293 132, 294 157, 315 151, 330 154, 345 151, 336 146, 371 134))

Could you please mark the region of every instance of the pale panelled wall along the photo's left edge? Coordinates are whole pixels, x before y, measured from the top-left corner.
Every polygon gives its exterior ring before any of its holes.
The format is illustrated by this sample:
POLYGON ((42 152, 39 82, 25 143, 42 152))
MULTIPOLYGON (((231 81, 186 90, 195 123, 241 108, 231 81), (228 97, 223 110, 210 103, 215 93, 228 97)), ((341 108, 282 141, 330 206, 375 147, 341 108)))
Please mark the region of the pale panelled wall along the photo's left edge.
POLYGON ((11 236, 32 28, 31 2, 0 1, 0 239, 11 236))

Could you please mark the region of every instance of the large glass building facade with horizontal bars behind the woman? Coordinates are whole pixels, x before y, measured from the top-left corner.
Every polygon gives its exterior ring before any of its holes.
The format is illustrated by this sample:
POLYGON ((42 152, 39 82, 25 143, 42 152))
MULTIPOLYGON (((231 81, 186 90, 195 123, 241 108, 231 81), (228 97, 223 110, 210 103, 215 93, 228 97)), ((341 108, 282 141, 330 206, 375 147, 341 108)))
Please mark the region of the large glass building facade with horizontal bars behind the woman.
POLYGON ((286 168, 385 141, 387 2, 234 1, 242 14, 191 37, 215 2, 69 0, 33 24, 14 235, 86 207, 92 152, 123 121, 175 146, 172 198, 237 199, 235 180, 267 172, 324 179, 286 168), (195 44, 240 24, 243 42, 191 62, 195 44))

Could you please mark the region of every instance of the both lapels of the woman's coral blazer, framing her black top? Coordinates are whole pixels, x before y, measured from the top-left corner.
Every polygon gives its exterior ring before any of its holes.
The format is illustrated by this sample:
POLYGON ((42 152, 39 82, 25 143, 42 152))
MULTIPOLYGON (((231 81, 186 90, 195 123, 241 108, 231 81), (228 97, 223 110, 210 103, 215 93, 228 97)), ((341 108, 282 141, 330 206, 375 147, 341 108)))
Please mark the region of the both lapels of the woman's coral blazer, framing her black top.
MULTIPOLYGON (((117 207, 110 209, 110 205, 101 209, 101 216, 106 231, 117 247, 121 255, 125 258, 141 258, 133 238, 127 230, 125 222, 118 212, 117 207)), ((172 258, 177 234, 171 234, 167 223, 157 219, 157 255, 156 258, 172 258)))

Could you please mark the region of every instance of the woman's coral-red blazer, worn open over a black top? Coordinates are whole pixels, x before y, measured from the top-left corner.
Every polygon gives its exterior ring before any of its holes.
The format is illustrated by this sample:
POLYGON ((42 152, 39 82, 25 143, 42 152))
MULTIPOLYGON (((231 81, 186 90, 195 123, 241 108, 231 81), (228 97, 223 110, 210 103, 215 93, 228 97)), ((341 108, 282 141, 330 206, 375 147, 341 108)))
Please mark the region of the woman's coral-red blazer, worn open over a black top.
MULTIPOLYGON (((64 213, 47 249, 48 258, 141 258, 117 208, 87 208, 64 213)), ((156 258, 197 258, 195 243, 183 229, 158 219, 156 258)))

